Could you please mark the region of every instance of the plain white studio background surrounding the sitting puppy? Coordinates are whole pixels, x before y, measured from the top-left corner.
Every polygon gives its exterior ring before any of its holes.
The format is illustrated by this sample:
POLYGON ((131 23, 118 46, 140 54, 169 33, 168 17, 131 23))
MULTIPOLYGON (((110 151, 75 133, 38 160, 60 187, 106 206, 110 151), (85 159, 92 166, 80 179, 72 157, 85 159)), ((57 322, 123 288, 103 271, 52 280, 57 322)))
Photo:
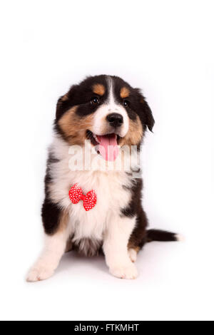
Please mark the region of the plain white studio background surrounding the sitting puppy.
POLYGON ((0 12, 1 319, 213 319, 213 1, 20 0, 0 12), (151 105, 143 205, 151 227, 185 242, 146 245, 136 280, 66 254, 54 277, 27 284, 56 101, 101 73, 151 105))

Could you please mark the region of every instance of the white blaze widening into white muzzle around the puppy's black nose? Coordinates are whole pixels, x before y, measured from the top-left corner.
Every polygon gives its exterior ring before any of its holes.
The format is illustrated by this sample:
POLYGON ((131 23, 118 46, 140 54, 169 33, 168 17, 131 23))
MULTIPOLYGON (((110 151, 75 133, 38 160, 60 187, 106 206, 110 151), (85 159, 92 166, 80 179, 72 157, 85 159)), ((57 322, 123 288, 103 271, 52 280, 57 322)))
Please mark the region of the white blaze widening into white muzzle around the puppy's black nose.
POLYGON ((108 126, 106 116, 111 113, 118 113, 123 116, 123 125, 118 128, 118 135, 124 137, 128 132, 129 119, 126 109, 116 101, 113 92, 113 80, 111 77, 107 78, 108 81, 108 98, 106 103, 103 103, 101 107, 96 110, 94 114, 93 133, 96 135, 103 135, 103 129, 108 126))

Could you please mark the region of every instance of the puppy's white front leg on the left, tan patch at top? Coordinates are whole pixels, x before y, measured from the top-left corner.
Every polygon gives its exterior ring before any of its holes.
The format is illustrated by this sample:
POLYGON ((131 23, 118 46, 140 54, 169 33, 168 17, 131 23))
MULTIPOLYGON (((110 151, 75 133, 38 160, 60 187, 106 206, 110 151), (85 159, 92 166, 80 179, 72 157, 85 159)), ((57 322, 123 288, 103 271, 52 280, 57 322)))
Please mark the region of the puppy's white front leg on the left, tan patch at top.
MULTIPOLYGON (((44 227, 46 230, 45 222, 44 227)), ((54 234, 46 232, 44 249, 39 259, 29 270, 26 277, 27 282, 38 282, 48 279, 54 274, 66 249, 66 242, 70 234, 68 228, 68 212, 61 211, 58 215, 57 230, 54 234)))

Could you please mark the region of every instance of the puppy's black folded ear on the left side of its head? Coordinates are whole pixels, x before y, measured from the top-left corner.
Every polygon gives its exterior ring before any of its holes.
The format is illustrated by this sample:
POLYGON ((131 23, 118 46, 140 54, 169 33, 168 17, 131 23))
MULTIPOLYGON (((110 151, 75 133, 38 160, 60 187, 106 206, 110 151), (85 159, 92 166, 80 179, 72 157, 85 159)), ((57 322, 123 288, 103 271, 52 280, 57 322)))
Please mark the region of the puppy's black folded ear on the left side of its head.
POLYGON ((70 109, 71 107, 73 107, 73 105, 75 105, 76 88, 77 85, 71 86, 68 93, 58 99, 56 104, 56 121, 61 118, 66 110, 70 109))

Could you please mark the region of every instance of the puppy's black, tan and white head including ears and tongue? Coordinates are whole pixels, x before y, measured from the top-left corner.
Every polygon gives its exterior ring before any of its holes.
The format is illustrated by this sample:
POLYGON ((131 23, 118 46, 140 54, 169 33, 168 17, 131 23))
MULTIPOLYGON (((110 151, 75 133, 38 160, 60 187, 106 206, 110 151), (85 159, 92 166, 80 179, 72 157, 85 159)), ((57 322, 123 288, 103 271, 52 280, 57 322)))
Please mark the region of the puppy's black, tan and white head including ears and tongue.
POLYGON ((115 160, 123 145, 140 145, 154 119, 138 88, 102 75, 86 78, 59 98, 55 125, 70 145, 91 140, 98 154, 115 160))

